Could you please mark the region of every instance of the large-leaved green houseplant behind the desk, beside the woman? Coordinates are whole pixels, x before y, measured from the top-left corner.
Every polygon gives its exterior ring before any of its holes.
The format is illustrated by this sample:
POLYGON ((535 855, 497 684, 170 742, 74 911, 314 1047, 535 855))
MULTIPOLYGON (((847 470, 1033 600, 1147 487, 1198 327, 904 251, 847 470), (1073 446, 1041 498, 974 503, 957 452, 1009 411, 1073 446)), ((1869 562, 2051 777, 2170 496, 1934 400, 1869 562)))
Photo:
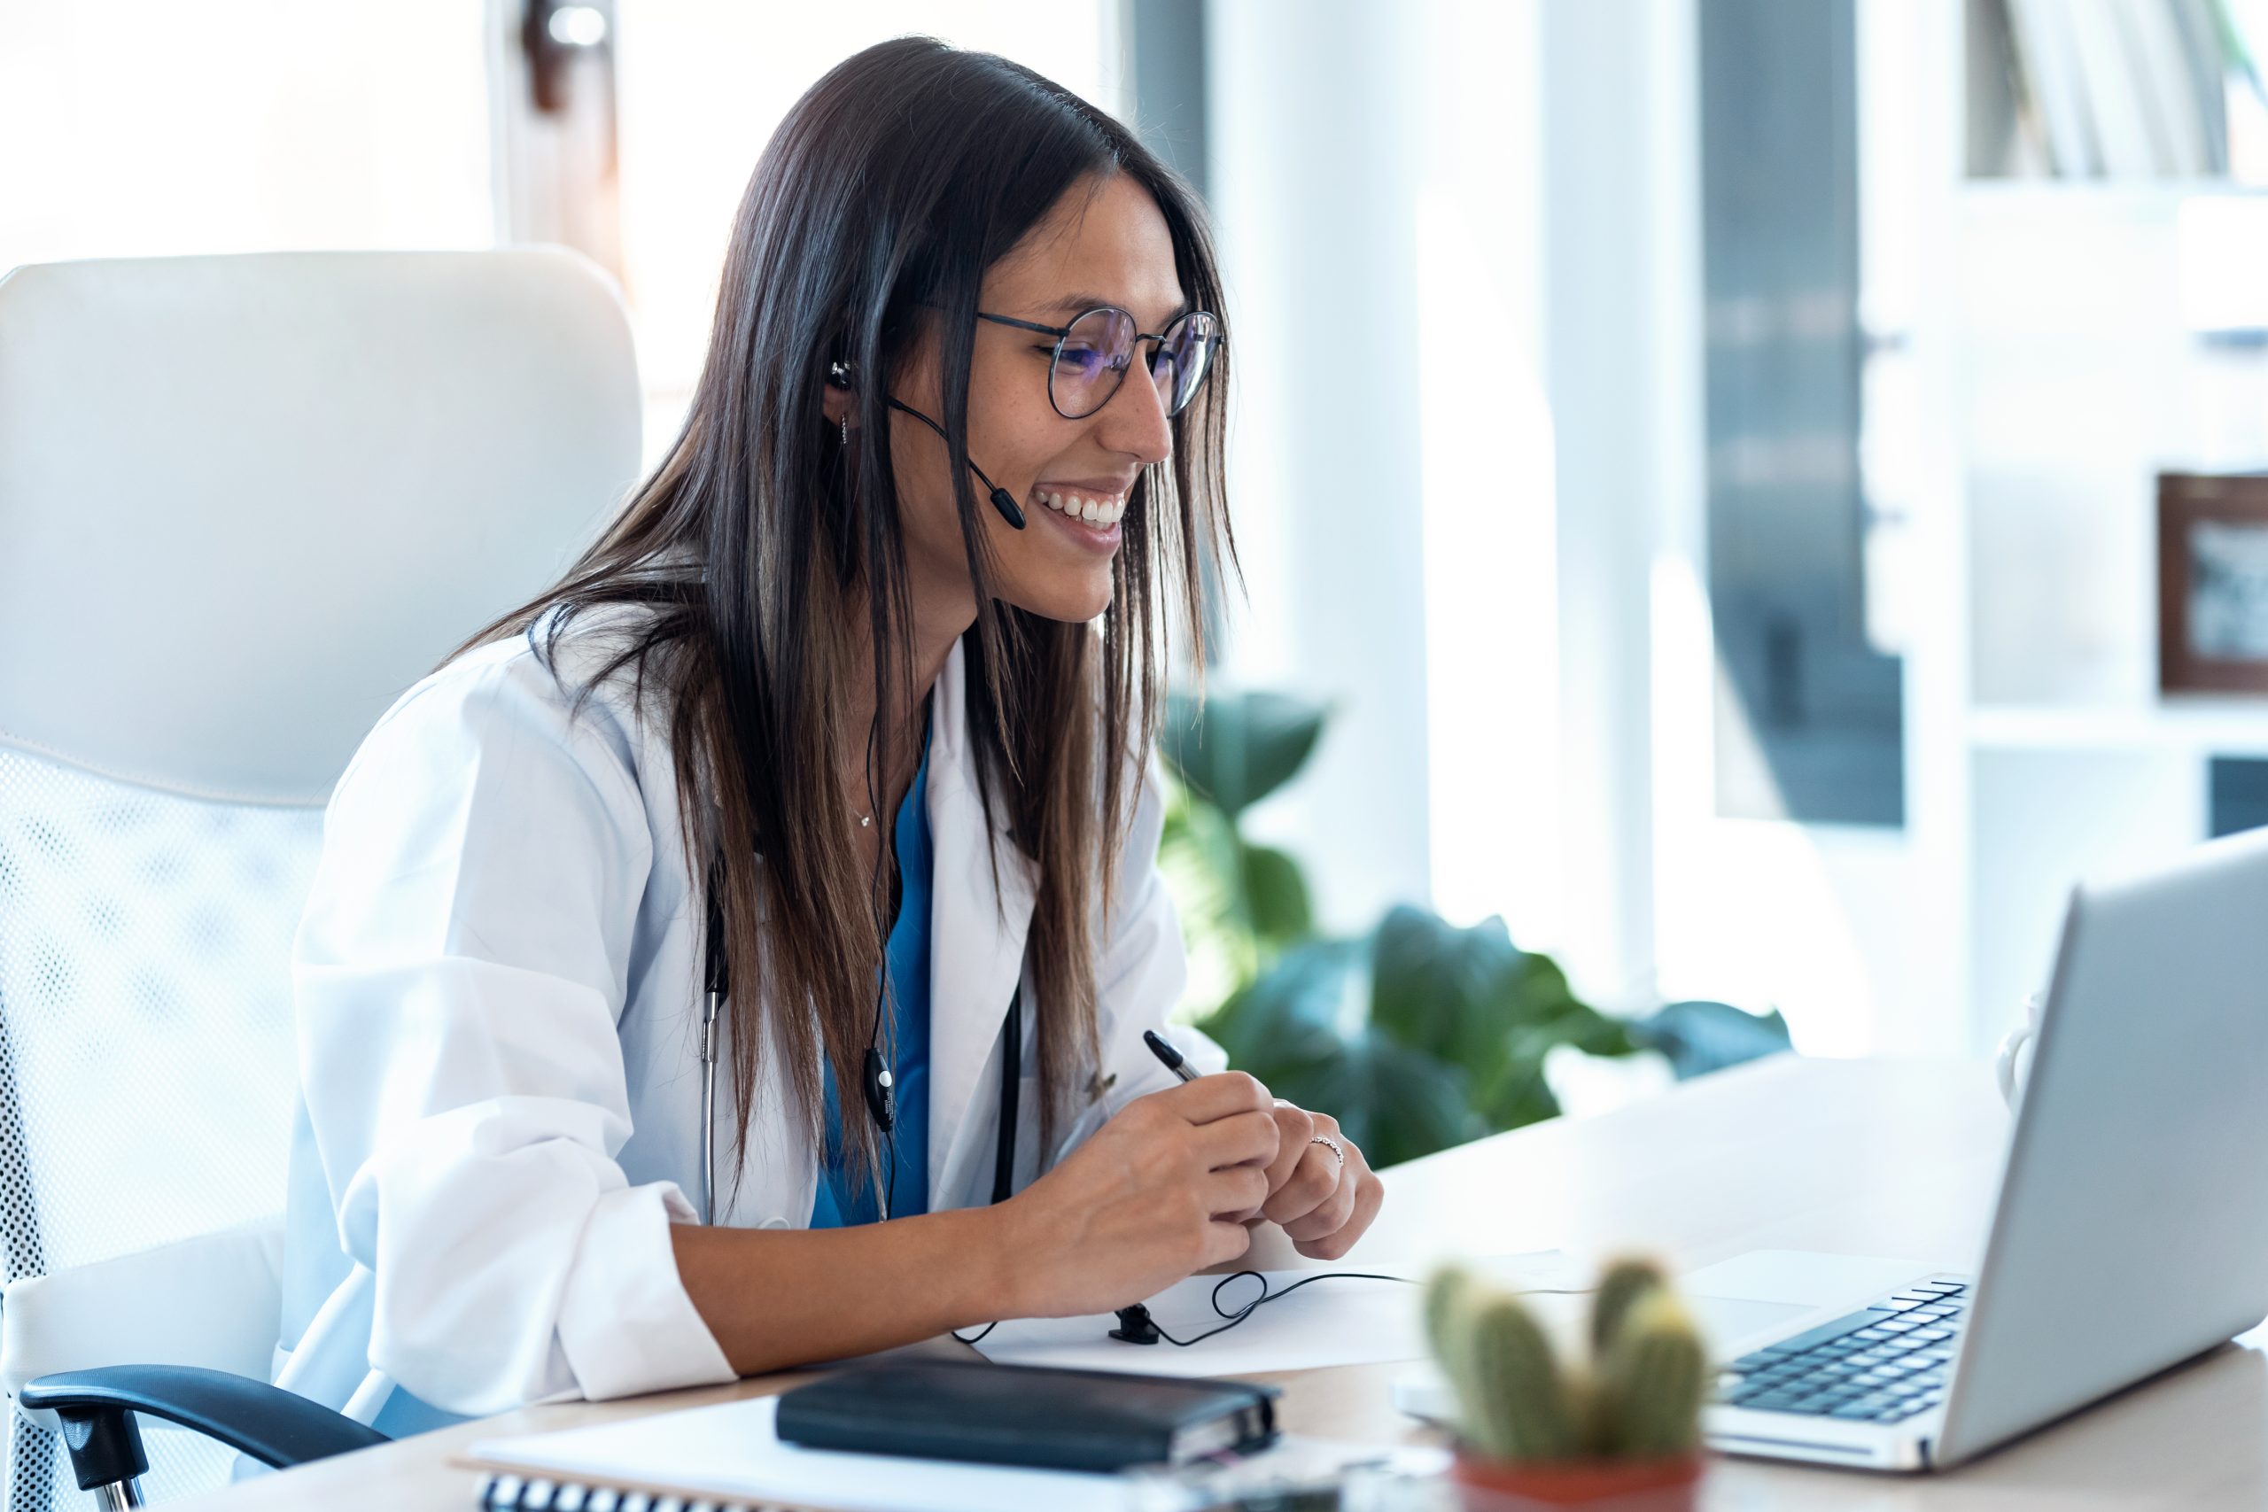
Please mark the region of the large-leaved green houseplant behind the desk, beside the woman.
POLYGON ((1198 1025, 1279 1097, 1331 1108, 1390 1165, 1556 1115, 1545 1056, 1658 1050, 1694 1077, 1787 1047, 1778 1013, 1676 1002, 1640 1020, 1581 1002, 1501 918, 1456 927, 1395 907, 1363 936, 1315 932, 1300 864, 1243 834, 1290 782, 1327 710, 1275 691, 1168 700, 1159 870, 1182 911, 1198 1025))

